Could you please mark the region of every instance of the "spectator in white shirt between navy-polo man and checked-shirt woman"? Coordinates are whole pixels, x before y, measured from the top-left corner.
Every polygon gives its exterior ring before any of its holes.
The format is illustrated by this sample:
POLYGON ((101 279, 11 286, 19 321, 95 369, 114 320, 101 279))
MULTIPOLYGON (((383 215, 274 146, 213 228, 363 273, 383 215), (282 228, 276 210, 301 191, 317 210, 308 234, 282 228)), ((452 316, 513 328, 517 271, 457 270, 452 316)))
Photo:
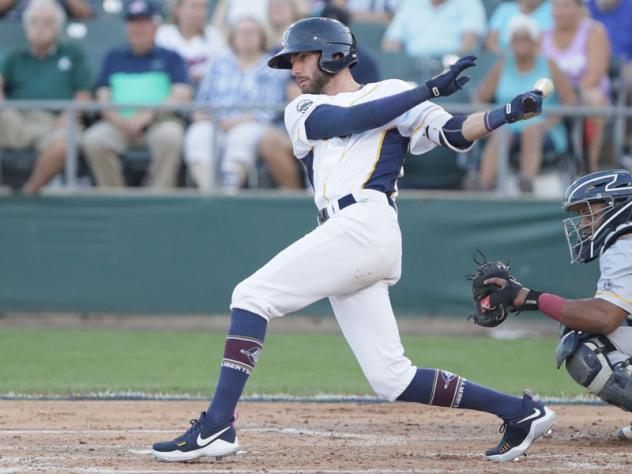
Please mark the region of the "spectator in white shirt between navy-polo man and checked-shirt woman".
POLYGON ((206 26, 208 0, 175 0, 171 16, 173 24, 158 28, 156 45, 180 54, 197 86, 211 62, 226 51, 226 40, 219 30, 206 26))

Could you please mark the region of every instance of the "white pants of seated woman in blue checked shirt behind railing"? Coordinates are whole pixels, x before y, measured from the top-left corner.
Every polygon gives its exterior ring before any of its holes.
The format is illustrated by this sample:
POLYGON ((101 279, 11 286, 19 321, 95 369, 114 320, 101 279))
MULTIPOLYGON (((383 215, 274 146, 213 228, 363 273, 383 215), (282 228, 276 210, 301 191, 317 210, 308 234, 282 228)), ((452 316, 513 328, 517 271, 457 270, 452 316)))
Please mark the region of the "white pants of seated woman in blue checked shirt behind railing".
POLYGON ((233 171, 235 165, 249 172, 257 161, 259 143, 268 125, 250 121, 235 125, 228 132, 218 132, 217 128, 210 120, 193 122, 184 140, 184 159, 195 184, 203 190, 215 187, 220 150, 222 172, 233 171))

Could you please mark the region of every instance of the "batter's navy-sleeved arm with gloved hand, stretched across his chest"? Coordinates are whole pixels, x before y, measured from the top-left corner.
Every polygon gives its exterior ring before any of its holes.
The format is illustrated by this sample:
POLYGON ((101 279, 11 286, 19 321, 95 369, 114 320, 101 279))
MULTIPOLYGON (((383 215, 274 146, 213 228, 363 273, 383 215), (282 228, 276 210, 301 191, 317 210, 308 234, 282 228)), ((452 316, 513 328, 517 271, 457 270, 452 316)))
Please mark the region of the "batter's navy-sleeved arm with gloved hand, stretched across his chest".
POLYGON ((325 140, 381 127, 429 99, 448 96, 461 89, 470 79, 459 74, 476 63, 475 56, 459 59, 442 74, 425 84, 381 99, 352 107, 322 104, 305 121, 307 138, 325 140))

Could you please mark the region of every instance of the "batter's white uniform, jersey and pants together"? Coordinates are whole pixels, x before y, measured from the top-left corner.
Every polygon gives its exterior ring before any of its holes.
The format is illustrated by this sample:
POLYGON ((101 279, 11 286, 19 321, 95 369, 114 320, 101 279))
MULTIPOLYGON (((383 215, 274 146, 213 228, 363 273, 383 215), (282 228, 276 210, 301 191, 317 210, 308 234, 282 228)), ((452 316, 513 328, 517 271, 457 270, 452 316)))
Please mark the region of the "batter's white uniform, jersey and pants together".
POLYGON ((387 196, 396 193, 407 149, 420 154, 440 143, 451 115, 425 102, 383 127, 328 140, 308 139, 305 120, 319 104, 349 107, 409 88, 388 80, 334 96, 304 94, 287 106, 294 153, 308 170, 316 205, 330 217, 237 285, 231 301, 231 309, 272 319, 329 298, 373 390, 388 400, 401 395, 417 368, 404 355, 389 298, 401 274, 402 238, 387 196), (354 204, 335 205, 350 193, 354 204))

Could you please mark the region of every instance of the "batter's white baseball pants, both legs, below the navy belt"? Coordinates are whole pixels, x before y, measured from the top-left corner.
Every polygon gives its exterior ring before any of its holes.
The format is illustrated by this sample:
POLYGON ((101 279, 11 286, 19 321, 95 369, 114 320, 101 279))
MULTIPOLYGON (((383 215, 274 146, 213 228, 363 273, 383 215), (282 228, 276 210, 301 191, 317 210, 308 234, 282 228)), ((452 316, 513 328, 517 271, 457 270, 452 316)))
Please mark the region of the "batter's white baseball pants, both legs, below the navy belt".
POLYGON ((401 274, 401 233, 385 194, 353 195, 356 204, 334 211, 237 285, 231 308, 272 319, 329 297, 373 390, 392 401, 416 372, 404 355, 388 295, 401 274))

